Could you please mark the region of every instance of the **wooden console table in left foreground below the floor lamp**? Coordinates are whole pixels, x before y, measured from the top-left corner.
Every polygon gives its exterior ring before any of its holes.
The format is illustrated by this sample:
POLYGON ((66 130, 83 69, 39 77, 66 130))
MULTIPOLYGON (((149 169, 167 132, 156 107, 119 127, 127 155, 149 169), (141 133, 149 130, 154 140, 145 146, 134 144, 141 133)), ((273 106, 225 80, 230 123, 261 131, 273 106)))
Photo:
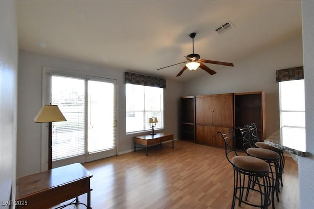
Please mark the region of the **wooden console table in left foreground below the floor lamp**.
POLYGON ((87 193, 90 207, 90 178, 93 175, 80 163, 23 176, 16 181, 16 208, 46 209, 87 193))

